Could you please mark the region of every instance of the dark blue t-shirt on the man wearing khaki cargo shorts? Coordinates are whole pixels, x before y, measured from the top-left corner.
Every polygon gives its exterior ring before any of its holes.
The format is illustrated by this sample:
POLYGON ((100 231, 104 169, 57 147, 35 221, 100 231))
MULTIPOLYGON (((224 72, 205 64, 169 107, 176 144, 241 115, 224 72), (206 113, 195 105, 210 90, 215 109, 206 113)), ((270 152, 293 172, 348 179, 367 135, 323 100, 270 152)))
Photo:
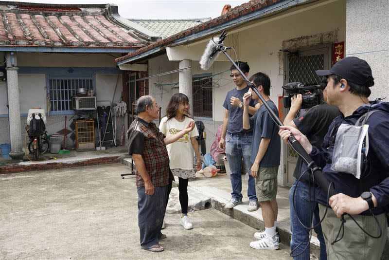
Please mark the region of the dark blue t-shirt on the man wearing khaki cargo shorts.
MULTIPOLYGON (((268 100, 266 103, 278 116, 278 110, 273 101, 268 100)), ((250 118, 250 129, 252 133, 251 143, 251 163, 254 163, 257 156, 259 145, 262 138, 270 138, 269 146, 265 152, 264 157, 261 160, 260 167, 275 167, 280 165, 281 156, 281 138, 278 135, 280 128, 274 123, 269 112, 267 112, 264 105, 250 118)))

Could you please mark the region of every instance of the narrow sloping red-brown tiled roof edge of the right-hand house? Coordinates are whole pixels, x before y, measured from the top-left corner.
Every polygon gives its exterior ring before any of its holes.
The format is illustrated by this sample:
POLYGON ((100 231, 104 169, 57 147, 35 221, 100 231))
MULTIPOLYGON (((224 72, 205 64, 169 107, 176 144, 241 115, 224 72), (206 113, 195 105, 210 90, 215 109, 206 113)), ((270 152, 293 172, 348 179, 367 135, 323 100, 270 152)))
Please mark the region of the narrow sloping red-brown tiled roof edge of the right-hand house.
POLYGON ((241 4, 239 6, 236 6, 234 8, 229 9, 228 12, 224 15, 221 15, 219 17, 212 19, 212 20, 203 22, 201 24, 195 25, 194 27, 191 27, 185 31, 179 32, 175 35, 172 35, 172 36, 167 37, 165 39, 161 39, 157 42, 149 44, 149 45, 147 45, 147 46, 145 46, 145 47, 143 47, 135 52, 132 52, 132 53, 129 53, 125 56, 116 58, 115 61, 120 62, 120 61, 126 60, 128 58, 141 55, 141 54, 143 54, 149 50, 152 50, 154 48, 157 48, 157 47, 160 48, 162 46, 166 46, 168 44, 171 44, 172 42, 174 42, 177 39, 193 35, 197 32, 203 31, 205 29, 216 27, 220 24, 229 22, 229 21, 236 19, 236 18, 239 18, 241 16, 248 15, 252 12, 255 12, 255 11, 258 11, 262 8, 265 8, 269 5, 272 5, 272 4, 277 3, 277 2, 282 2, 282 1, 283 0, 250 0, 247 3, 241 4))

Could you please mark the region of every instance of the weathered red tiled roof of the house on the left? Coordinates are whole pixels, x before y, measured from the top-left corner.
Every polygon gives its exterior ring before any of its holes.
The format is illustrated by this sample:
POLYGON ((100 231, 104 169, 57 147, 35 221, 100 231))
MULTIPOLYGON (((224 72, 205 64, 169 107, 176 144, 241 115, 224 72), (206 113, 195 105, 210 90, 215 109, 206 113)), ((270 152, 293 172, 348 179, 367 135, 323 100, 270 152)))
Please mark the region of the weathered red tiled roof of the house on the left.
POLYGON ((144 37, 111 16, 112 7, 0 2, 0 46, 145 46, 144 37))

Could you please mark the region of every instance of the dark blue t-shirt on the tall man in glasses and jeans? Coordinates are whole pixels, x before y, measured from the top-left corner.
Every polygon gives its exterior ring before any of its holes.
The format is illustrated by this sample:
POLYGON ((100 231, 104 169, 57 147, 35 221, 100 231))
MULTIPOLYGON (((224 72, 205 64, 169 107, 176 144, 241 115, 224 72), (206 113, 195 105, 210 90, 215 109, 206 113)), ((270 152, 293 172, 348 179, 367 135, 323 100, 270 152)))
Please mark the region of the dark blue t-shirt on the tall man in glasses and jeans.
MULTIPOLYGON (((243 95, 248 92, 250 87, 246 87, 242 90, 234 88, 227 93, 226 99, 224 100, 223 107, 230 113, 228 118, 227 132, 229 133, 247 133, 252 130, 243 129, 243 108, 239 108, 230 104, 230 98, 232 96, 239 98, 243 102, 243 95)), ((249 106, 254 107, 258 101, 251 99, 249 106)), ((250 115, 251 116, 251 115, 250 115)))

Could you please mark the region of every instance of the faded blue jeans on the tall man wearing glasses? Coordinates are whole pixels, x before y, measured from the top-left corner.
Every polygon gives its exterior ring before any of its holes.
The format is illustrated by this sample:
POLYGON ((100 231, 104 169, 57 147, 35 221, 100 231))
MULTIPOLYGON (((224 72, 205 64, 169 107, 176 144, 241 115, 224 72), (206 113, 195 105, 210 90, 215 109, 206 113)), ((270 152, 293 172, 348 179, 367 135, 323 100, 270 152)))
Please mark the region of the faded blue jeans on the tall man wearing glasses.
MULTIPOLYGON (((246 164, 247 171, 251 169, 251 142, 252 133, 226 134, 226 156, 230 166, 231 197, 242 200, 242 158, 246 164)), ((247 195, 250 201, 258 201, 255 193, 255 179, 249 174, 247 195)))

